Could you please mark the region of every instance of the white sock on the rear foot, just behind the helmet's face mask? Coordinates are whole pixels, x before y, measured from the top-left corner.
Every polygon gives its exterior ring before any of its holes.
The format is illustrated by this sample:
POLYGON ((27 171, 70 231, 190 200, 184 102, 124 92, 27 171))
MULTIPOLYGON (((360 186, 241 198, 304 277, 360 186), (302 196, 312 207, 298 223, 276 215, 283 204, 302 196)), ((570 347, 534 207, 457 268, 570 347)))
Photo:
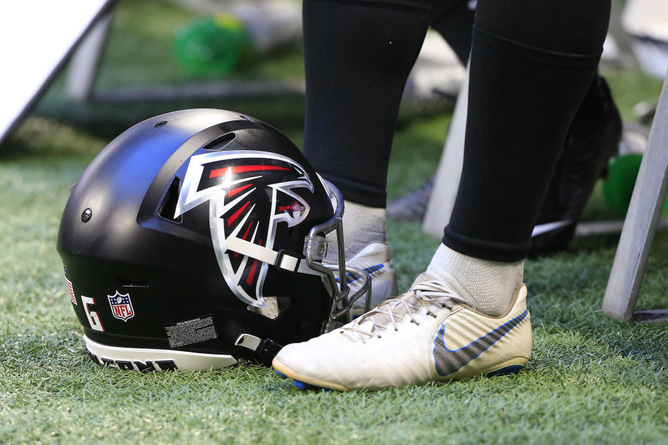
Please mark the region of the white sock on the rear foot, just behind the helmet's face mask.
MULTIPOLYGON (((381 207, 369 207, 357 202, 344 200, 343 212, 343 240, 345 243, 346 258, 364 248, 373 241, 385 242, 385 209, 381 207)), ((325 261, 336 263, 337 243, 336 233, 327 234, 327 256, 325 261)))

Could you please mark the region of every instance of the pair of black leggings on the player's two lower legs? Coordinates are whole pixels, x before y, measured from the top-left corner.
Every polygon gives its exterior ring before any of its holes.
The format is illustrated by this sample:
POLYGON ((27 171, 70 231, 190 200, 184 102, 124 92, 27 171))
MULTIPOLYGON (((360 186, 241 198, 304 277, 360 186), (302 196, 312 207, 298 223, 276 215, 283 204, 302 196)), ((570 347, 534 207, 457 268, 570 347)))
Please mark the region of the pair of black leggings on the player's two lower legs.
MULTIPOLYGON (((429 23, 438 29, 439 11, 461 5, 304 1, 305 154, 347 200, 385 207, 406 77, 429 23)), ((525 256, 609 13, 610 0, 478 1, 463 171, 443 243, 485 259, 525 256)))

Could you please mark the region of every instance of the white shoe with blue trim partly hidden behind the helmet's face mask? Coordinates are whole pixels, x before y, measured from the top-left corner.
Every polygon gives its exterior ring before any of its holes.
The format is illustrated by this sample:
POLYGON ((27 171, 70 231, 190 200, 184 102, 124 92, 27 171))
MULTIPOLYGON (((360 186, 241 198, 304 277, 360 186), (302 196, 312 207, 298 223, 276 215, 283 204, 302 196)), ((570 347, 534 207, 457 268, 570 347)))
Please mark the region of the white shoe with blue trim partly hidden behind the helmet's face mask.
MULTIPOLYGON (((323 262, 323 266, 335 270, 337 280, 338 264, 323 262)), ((392 298, 399 293, 397 289, 397 273, 392 266, 392 254, 388 243, 373 242, 362 248, 351 258, 346 259, 346 267, 356 270, 362 270, 371 277, 371 306, 375 307, 384 300, 392 298)), ((362 286, 361 277, 349 273, 347 275, 348 285, 350 286, 350 295, 353 295, 362 286)), ((362 296, 353 303, 353 314, 361 315, 364 313, 365 296, 362 296)))

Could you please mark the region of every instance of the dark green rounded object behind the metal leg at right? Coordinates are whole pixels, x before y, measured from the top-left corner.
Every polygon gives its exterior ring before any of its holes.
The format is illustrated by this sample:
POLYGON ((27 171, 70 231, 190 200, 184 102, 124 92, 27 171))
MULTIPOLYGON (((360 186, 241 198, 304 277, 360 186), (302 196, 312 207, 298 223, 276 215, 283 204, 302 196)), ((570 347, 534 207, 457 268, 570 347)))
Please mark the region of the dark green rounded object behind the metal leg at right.
MULTIPOLYGON (((633 195, 633 187, 638 177, 642 155, 623 154, 610 160, 608 177, 603 181, 603 196, 606 204, 613 210, 626 215, 633 195)), ((668 208, 668 198, 663 206, 668 208)))

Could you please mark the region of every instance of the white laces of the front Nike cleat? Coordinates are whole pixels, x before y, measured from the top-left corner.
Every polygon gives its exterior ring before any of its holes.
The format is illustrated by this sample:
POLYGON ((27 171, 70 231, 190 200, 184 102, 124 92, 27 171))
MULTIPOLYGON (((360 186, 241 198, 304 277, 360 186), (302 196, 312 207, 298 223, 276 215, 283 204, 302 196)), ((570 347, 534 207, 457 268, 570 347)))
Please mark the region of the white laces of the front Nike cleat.
MULTIPOLYGON (((424 306, 436 308, 436 312, 443 309, 452 310, 454 305, 463 303, 463 299, 454 293, 447 291, 442 282, 437 280, 426 280, 413 284, 411 289, 403 295, 385 300, 376 309, 372 309, 352 323, 339 328, 341 334, 351 341, 361 340, 366 343, 367 339, 373 337, 381 338, 378 331, 386 327, 394 327, 399 330, 398 323, 406 316, 411 318, 411 323, 420 325, 415 320, 415 314, 420 312, 424 306)), ((436 312, 427 309, 427 315, 436 318, 436 312)))

